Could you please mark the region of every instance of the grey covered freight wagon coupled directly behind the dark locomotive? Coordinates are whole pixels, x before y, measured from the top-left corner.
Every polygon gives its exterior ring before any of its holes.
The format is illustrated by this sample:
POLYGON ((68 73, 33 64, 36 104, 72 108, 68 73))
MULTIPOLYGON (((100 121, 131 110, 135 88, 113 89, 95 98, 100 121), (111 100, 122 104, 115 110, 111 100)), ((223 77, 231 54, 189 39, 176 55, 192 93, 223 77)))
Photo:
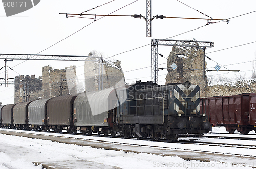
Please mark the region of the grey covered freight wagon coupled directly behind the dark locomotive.
MULTIPOLYGON (((110 104, 111 93, 114 88, 108 88, 100 91, 87 92, 79 94, 74 101, 74 125, 80 132, 88 133, 98 132, 99 134, 110 124, 108 111, 113 109, 116 104, 110 104), (103 128, 103 130, 102 130, 103 128)), ((114 100, 117 102, 116 94, 114 100)), ((112 127, 112 126, 111 126, 112 127)), ((107 131, 105 131, 108 134, 107 131)))

